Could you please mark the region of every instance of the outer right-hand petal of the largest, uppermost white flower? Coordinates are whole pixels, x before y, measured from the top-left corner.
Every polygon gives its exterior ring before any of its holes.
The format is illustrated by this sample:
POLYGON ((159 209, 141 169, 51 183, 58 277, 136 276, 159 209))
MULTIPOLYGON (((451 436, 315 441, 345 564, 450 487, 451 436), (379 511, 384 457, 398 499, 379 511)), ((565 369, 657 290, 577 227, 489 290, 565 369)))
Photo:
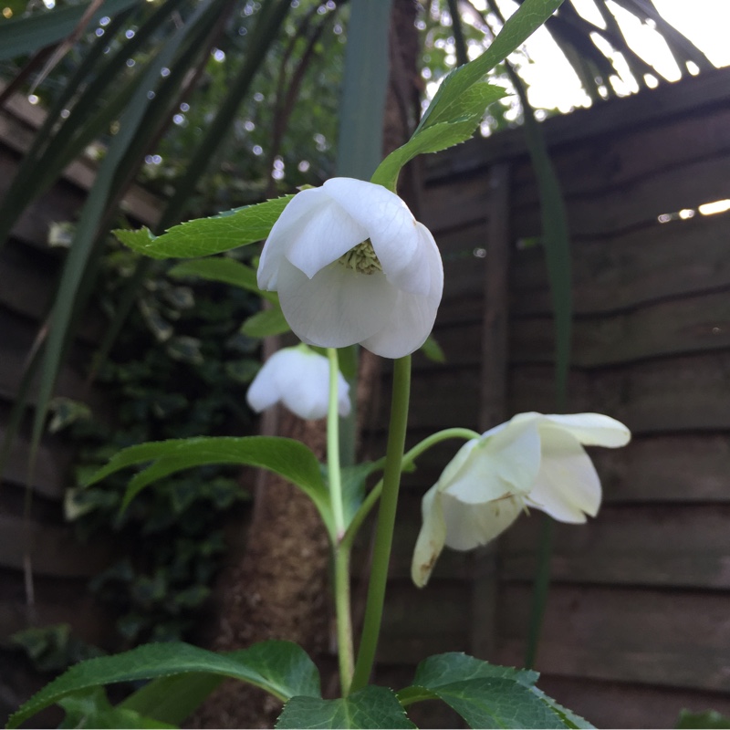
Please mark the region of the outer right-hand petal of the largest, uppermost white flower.
POLYGON ((425 241, 421 247, 422 272, 429 280, 425 296, 399 291, 391 317, 368 339, 360 340, 364 348, 383 358, 401 358, 419 349, 433 329, 443 294, 443 264, 438 247, 425 241))

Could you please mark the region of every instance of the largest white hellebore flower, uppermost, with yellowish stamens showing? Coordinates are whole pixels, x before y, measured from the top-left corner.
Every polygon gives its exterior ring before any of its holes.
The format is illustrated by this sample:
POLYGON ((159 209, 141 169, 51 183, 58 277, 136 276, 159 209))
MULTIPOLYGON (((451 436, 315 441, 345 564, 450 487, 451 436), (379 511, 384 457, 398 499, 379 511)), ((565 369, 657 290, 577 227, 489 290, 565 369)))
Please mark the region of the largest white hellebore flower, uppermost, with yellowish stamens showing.
POLYGON ((278 292, 309 345, 360 343, 401 358, 433 328, 443 266, 433 235, 398 195, 340 177, 287 204, 266 239, 258 286, 278 292))

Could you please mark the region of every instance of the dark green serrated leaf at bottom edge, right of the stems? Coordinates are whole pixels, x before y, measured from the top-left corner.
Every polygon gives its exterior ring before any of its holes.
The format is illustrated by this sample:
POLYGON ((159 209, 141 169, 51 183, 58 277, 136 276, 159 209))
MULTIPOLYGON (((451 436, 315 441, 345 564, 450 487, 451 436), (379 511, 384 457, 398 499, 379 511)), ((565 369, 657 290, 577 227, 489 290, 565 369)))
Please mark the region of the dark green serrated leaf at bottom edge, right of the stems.
POLYGON ((432 656, 416 669, 413 684, 398 693, 407 706, 441 699, 471 727, 590 728, 535 686, 537 672, 501 667, 463 653, 432 656))

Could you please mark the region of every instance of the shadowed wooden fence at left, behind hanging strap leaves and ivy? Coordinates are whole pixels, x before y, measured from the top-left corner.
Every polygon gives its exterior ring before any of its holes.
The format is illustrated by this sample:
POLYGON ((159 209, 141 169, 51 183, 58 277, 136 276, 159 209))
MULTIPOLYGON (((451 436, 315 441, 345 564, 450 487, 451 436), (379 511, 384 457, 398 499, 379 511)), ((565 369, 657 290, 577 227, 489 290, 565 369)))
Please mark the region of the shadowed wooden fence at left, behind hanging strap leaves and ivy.
MULTIPOLYGON (((43 112, 26 99, 10 99, 0 112, 0 196, 28 148, 43 112)), ((24 363, 47 316, 59 249, 48 245, 53 223, 73 221, 93 183, 93 162, 78 161, 63 179, 20 219, 0 252, 0 440, 10 417, 24 363)), ((125 200, 130 216, 151 224, 156 202, 135 189, 125 200)), ((60 373, 57 394, 99 405, 99 392, 85 385, 85 368, 99 337, 101 318, 87 318, 60 373)), ((31 402, 33 402, 31 398, 31 402)), ((25 516, 29 424, 24 423, 9 456, 0 486, 0 714, 15 711, 40 681, 27 671, 10 636, 32 626, 67 623, 78 638, 104 646, 113 635, 110 620, 89 594, 89 578, 109 564, 109 545, 79 543, 63 516, 71 453, 62 439, 47 436, 40 446, 32 482, 32 506, 25 516), (33 576, 33 590, 26 576, 33 576)))

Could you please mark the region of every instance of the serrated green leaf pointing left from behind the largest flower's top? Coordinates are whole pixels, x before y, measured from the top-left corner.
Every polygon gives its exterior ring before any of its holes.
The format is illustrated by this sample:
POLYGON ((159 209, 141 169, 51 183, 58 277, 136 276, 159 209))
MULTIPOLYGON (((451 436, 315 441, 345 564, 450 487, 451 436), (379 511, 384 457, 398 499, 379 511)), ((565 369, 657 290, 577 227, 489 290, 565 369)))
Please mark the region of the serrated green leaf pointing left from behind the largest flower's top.
POLYGON ((151 235, 147 228, 112 233, 122 244, 151 258, 196 258, 221 254, 266 238, 293 197, 284 195, 213 218, 197 218, 173 225, 167 233, 158 236, 151 235))

